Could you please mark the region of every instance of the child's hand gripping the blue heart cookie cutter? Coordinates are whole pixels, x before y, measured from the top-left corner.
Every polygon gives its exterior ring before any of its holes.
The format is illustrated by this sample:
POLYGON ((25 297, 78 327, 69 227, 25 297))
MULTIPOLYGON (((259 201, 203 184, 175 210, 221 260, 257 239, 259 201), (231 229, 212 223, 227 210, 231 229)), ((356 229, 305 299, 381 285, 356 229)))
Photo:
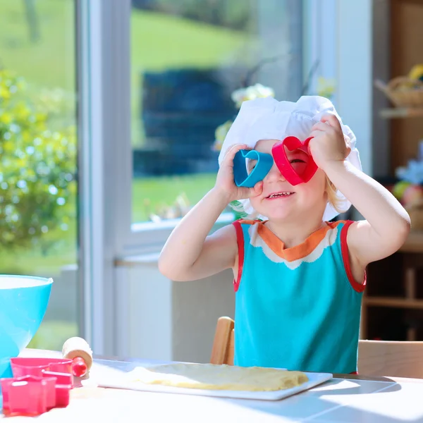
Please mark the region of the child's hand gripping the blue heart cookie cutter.
POLYGON ((254 188, 237 187, 233 180, 233 158, 240 149, 251 149, 246 145, 233 145, 225 154, 217 173, 216 185, 214 188, 219 190, 229 202, 243 200, 245 198, 256 197, 263 191, 263 182, 256 183, 254 188))

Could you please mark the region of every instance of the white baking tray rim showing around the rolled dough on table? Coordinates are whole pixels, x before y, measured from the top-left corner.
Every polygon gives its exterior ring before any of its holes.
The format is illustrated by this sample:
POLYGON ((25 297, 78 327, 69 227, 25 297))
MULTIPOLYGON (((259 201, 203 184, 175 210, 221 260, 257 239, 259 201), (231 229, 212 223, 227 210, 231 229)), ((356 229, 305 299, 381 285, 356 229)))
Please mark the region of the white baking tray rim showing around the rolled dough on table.
POLYGON ((123 377, 108 377, 97 379, 98 386, 102 388, 129 389, 131 391, 147 391, 158 393, 179 393, 184 395, 212 396, 220 398, 240 398, 245 400, 281 400, 296 393, 307 391, 319 384, 332 379, 331 373, 307 373, 309 381, 295 388, 283 389, 281 391, 217 391, 213 389, 175 388, 173 386, 149 385, 142 382, 125 381, 123 377))

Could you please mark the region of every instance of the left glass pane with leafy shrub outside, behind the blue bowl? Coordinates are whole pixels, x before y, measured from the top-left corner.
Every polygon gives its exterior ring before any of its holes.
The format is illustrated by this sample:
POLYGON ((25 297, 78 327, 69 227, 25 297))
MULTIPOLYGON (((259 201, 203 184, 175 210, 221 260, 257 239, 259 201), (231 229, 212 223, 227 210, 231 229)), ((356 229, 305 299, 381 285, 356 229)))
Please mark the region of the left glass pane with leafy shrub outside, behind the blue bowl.
POLYGON ((33 348, 78 334, 75 2, 0 2, 2 274, 54 278, 33 348))

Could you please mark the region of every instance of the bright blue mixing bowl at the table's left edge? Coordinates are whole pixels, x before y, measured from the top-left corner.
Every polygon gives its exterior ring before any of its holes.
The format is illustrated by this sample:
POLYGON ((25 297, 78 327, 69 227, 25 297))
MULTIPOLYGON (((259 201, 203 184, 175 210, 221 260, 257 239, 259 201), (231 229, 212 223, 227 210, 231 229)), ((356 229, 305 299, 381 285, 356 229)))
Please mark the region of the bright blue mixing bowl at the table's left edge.
POLYGON ((53 279, 0 275, 0 378, 30 343, 49 304, 53 279))

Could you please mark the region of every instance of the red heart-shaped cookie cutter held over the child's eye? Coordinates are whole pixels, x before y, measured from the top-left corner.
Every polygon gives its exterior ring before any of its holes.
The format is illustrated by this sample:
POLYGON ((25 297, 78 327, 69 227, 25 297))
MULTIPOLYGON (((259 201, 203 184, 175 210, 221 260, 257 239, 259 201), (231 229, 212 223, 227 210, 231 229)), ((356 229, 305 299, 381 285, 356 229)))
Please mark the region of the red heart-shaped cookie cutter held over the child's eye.
POLYGON ((309 142, 312 140, 312 138, 313 137, 309 137, 307 140, 302 142, 297 137, 286 137, 284 140, 276 142, 276 144, 271 149, 276 166, 278 166, 279 171, 291 185, 298 185, 299 183, 308 182, 317 171, 317 164, 314 163, 312 154, 310 154, 308 149, 309 142), (290 152, 294 151, 295 149, 300 149, 309 155, 307 167, 301 175, 298 175, 292 164, 290 164, 288 156, 286 155, 285 147, 290 152))

